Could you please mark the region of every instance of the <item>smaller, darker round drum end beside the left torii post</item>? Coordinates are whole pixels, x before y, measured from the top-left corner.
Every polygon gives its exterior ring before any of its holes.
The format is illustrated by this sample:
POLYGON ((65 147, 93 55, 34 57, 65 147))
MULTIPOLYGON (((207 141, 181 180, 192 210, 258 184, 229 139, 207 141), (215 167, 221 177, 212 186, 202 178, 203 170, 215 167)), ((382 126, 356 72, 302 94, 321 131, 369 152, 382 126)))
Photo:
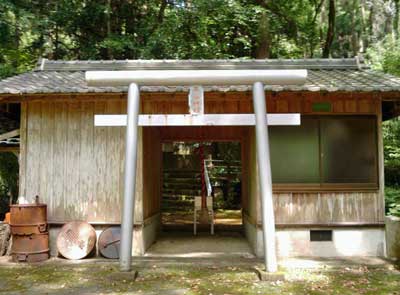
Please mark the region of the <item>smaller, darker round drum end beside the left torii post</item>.
POLYGON ((112 226, 105 229, 99 237, 100 254, 106 258, 118 259, 120 241, 121 228, 119 226, 112 226))

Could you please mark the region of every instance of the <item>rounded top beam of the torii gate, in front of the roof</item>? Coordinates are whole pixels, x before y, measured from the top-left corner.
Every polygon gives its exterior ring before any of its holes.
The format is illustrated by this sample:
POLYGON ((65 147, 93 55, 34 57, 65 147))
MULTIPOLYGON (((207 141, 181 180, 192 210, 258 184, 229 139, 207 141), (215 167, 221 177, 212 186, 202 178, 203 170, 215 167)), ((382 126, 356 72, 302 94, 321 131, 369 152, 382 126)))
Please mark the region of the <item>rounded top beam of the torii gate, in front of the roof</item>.
POLYGON ((163 70, 87 71, 89 86, 269 85, 304 84, 307 70, 163 70))

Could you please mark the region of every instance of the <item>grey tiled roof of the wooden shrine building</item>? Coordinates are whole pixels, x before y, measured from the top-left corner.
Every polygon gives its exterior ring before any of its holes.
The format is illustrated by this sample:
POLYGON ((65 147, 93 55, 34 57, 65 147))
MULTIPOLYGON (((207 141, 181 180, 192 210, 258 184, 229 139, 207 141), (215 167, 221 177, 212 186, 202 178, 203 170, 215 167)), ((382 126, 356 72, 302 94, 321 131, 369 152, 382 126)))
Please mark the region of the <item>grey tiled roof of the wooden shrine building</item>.
MULTIPOLYGON (((127 87, 88 87, 85 71, 170 69, 307 69, 304 85, 266 85, 271 91, 400 91, 400 78, 371 70, 354 59, 298 60, 41 60, 32 72, 0 81, 0 95, 35 93, 121 93, 127 87)), ((188 87, 142 86, 144 92, 185 92, 188 87)), ((249 91, 249 85, 211 86, 205 91, 249 91)))

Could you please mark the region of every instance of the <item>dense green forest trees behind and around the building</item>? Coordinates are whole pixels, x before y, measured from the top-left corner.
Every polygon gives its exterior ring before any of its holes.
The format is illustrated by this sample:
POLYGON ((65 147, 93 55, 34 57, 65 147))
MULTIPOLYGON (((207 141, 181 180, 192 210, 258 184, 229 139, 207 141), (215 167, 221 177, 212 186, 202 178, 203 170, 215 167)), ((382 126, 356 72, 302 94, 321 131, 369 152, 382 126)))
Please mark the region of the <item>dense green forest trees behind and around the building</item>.
MULTIPOLYGON (((362 55, 400 76, 400 0, 0 0, 0 78, 49 59, 362 55)), ((387 211, 400 215, 400 121, 384 123, 387 211)), ((17 190, 0 154, 0 201, 17 190)))

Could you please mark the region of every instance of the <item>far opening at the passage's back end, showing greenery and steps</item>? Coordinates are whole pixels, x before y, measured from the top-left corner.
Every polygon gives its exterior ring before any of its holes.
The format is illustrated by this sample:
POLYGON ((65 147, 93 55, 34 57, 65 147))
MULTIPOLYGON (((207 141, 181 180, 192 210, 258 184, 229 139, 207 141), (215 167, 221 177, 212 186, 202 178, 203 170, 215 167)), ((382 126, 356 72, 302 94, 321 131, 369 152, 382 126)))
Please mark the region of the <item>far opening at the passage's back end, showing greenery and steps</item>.
MULTIPOLYGON (((196 197, 207 209, 211 197, 215 232, 242 230, 240 142, 164 142, 162 152, 163 231, 193 231, 196 197)), ((199 232, 210 232, 210 218, 197 211, 199 232)))

